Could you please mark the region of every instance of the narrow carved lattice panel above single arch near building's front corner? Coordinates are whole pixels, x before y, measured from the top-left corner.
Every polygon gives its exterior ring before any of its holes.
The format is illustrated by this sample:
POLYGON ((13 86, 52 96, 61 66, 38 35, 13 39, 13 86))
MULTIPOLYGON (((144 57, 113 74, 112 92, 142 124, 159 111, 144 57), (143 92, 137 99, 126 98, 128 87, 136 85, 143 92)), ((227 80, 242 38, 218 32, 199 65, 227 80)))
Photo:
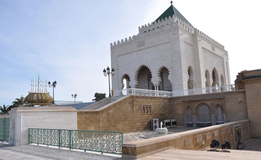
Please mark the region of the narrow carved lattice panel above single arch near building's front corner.
POLYGON ((190 77, 187 74, 187 78, 194 80, 195 79, 195 65, 194 65, 194 53, 193 53, 193 46, 185 43, 185 59, 186 59, 186 66, 187 69, 192 67, 193 73, 190 73, 190 77))

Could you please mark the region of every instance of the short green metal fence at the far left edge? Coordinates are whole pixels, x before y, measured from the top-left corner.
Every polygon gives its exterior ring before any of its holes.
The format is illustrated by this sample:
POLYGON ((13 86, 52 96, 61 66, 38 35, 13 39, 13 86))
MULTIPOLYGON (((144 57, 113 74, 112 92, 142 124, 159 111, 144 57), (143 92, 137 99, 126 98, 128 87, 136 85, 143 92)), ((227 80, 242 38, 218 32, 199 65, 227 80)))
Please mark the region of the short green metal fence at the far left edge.
POLYGON ((9 140, 10 118, 0 118, 0 140, 9 140))

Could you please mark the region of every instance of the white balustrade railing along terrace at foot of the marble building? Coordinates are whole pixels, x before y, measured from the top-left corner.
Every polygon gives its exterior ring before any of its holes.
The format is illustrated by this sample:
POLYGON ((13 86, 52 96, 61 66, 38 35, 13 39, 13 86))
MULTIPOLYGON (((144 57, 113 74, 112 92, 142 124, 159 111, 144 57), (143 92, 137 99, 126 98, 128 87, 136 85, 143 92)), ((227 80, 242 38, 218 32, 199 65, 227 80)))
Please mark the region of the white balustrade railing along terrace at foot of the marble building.
POLYGON ((205 94, 205 93, 217 93, 217 92, 227 92, 234 91, 235 85, 225 85, 225 86, 216 86, 216 87, 206 87, 206 88, 196 88, 188 89, 182 91, 155 91, 148 89, 136 89, 136 88, 127 88, 113 91, 114 96, 123 96, 123 95, 143 95, 143 96, 160 96, 160 97, 176 97, 176 96, 188 96, 196 94, 205 94))

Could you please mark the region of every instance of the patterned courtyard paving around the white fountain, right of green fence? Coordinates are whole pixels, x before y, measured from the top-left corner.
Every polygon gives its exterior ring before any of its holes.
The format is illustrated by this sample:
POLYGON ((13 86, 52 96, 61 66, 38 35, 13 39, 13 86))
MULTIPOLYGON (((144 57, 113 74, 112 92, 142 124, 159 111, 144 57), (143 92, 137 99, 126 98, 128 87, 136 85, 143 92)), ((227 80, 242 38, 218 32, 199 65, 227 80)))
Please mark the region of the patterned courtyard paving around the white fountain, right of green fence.
MULTIPOLYGON (((174 128, 168 128, 168 132, 172 133, 179 133, 184 131, 190 131, 193 129, 199 129, 199 128, 193 128, 193 127, 174 127, 174 128)), ((143 140, 144 138, 141 138, 140 136, 144 136, 145 134, 149 134, 155 131, 143 131, 143 132, 136 132, 136 133, 128 133, 123 135, 123 142, 133 142, 137 140, 143 140)))

